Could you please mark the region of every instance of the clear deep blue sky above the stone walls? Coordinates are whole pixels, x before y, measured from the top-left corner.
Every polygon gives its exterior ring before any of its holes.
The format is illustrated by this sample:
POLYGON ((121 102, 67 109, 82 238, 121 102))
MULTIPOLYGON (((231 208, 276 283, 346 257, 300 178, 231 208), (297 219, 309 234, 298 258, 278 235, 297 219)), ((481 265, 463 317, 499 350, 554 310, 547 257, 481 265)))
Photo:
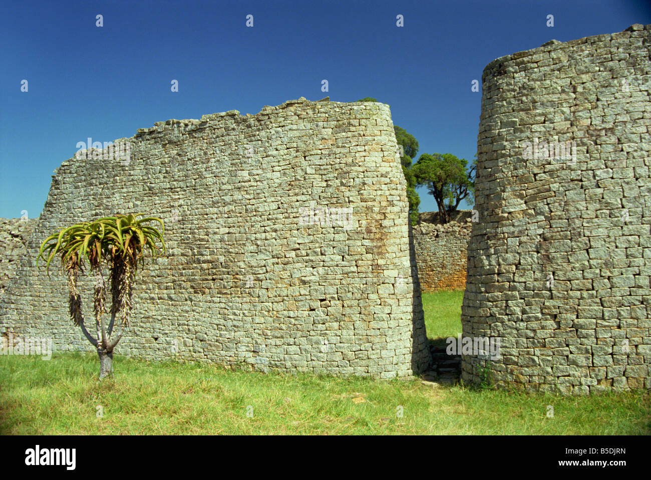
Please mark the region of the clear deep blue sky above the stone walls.
MULTIPOLYGON (((160 120, 257 113, 301 96, 372 96, 416 137, 419 155, 471 160, 481 100, 471 81, 487 63, 632 23, 651 23, 648 1, 5 2, 0 217, 37 217, 53 169, 87 137, 112 141, 160 120)), ((436 210, 419 193, 420 210, 436 210)))

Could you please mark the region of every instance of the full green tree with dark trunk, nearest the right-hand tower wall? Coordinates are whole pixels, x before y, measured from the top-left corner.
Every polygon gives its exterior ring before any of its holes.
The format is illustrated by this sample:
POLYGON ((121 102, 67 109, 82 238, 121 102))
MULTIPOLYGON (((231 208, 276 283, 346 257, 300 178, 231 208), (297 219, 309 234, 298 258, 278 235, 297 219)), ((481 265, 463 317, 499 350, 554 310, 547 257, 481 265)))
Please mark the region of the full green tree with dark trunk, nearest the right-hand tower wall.
POLYGON ((475 191, 477 160, 467 170, 467 160, 446 154, 422 154, 413 168, 417 186, 426 186, 436 200, 439 218, 450 221, 450 214, 465 198, 472 199, 475 191))

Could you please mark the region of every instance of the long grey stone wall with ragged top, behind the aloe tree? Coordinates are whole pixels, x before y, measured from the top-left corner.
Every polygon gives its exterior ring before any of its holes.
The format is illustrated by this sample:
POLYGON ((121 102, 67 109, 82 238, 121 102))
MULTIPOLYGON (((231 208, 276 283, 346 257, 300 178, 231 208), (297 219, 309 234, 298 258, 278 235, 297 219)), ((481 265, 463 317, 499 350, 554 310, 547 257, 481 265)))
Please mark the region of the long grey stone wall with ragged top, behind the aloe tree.
POLYGON ((428 366, 388 106, 301 98, 157 122, 128 140, 128 160, 57 169, 0 330, 89 348, 58 263, 49 278, 36 267, 38 246, 63 223, 146 212, 165 220, 168 255, 137 278, 118 354, 380 378, 428 366))

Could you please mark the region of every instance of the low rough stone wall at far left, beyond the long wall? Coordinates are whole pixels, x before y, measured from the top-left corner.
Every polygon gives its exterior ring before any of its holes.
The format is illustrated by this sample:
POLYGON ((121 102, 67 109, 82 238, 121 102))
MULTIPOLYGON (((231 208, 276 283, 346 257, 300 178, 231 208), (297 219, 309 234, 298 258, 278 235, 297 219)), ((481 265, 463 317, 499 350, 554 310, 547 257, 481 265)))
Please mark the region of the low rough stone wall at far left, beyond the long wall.
POLYGON ((0 296, 16 276, 19 261, 27 252, 27 238, 35 225, 35 218, 0 218, 0 296))

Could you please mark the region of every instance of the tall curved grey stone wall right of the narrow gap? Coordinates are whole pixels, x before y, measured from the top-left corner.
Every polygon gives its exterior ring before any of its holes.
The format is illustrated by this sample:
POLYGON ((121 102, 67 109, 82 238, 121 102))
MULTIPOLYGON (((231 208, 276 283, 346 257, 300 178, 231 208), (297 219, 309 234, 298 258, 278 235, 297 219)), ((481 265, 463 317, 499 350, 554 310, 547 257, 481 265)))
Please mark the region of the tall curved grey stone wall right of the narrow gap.
POLYGON ((650 44, 633 25, 486 66, 462 323, 501 355, 465 380, 651 388, 650 44))

